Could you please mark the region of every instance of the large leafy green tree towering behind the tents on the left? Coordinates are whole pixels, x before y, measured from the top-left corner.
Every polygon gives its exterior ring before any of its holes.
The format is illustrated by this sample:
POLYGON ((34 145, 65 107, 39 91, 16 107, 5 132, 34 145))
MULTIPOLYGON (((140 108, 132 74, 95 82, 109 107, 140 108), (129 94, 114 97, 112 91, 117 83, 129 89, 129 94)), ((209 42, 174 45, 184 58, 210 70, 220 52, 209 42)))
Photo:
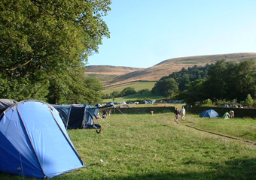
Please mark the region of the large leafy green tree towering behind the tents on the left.
MULTIPOLYGON (((81 76, 88 55, 98 52, 102 37, 109 37, 102 17, 110 4, 111 0, 1 0, 1 77, 20 86, 27 83, 34 91, 38 82, 44 83, 44 91, 34 98, 51 103, 74 101, 69 98, 75 98, 78 89, 87 94, 81 76)), ((16 91, 23 93, 19 86, 16 91)))

